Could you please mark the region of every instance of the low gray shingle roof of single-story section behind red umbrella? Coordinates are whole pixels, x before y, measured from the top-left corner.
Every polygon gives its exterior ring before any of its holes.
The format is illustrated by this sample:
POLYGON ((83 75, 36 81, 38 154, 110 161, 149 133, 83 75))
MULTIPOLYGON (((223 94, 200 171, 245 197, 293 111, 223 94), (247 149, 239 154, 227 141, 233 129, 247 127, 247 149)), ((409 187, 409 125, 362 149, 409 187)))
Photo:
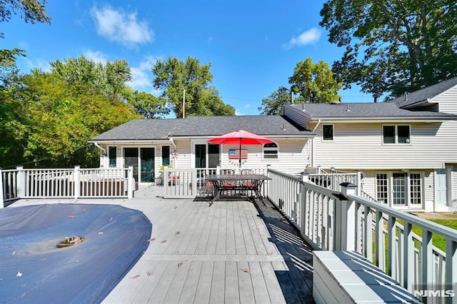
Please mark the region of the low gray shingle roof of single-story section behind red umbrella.
POLYGON ((282 116, 189 116, 174 119, 135 119, 91 141, 160 140, 166 136, 218 136, 238 129, 261 136, 312 136, 282 116))

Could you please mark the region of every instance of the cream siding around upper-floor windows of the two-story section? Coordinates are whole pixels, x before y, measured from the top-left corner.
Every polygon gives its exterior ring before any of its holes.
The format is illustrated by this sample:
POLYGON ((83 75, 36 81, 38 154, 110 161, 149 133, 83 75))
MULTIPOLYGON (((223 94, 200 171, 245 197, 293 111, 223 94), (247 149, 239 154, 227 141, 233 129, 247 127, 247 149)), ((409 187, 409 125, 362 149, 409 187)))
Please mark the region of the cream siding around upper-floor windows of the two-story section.
MULTIPOLYGON (((408 124, 408 123, 404 123, 408 124)), ((314 139, 315 166, 338 169, 442 168, 457 158, 451 128, 441 123, 409 123, 411 144, 383 144, 382 123, 333 123, 333 141, 314 139)))

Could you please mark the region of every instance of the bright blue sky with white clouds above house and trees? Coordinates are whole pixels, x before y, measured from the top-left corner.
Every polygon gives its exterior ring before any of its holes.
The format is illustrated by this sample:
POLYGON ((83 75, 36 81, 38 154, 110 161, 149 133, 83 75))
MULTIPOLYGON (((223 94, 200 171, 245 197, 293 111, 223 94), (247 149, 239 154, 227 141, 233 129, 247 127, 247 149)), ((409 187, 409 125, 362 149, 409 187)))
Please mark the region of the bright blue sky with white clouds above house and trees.
MULTIPOLYGON (((237 115, 257 115, 262 98, 306 58, 340 59, 343 49, 318 25, 324 1, 61 1, 49 0, 51 25, 26 24, 15 16, 1 24, 1 48, 26 51, 18 66, 46 71, 56 59, 84 54, 94 61, 126 59, 130 86, 159 95, 151 68, 169 56, 211 64, 212 85, 237 115), (219 3, 220 2, 220 3, 219 3)), ((357 88, 343 102, 372 102, 357 88)))

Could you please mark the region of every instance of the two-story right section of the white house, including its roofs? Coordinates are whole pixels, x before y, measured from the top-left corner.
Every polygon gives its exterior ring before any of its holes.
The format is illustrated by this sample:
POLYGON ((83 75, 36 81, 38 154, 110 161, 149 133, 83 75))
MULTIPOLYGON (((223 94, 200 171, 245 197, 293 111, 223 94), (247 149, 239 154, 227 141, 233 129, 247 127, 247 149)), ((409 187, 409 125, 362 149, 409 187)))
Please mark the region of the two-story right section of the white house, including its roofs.
POLYGON ((386 103, 293 104, 281 114, 316 133, 311 166, 362 171, 378 201, 449 211, 457 198, 457 78, 386 103))

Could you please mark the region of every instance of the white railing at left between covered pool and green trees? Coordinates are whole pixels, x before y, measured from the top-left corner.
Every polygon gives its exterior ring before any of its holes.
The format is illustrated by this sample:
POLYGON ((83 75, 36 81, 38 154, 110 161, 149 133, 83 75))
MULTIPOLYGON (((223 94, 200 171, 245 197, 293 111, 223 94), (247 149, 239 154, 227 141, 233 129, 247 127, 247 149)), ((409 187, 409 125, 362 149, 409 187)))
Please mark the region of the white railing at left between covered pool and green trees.
POLYGON ((19 198, 131 198, 133 168, 1 170, 0 207, 19 198))

